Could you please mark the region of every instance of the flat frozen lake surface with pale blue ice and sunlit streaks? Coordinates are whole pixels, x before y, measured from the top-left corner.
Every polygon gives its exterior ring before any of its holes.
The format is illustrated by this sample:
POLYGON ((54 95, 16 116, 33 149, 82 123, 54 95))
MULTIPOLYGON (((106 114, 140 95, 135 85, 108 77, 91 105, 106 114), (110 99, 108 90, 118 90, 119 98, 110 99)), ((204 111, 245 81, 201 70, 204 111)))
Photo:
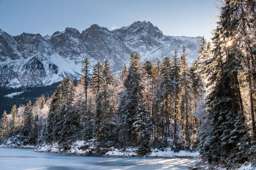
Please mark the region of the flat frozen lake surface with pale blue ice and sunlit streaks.
POLYGON ((0 169, 188 169, 193 158, 116 158, 72 156, 0 148, 0 169))

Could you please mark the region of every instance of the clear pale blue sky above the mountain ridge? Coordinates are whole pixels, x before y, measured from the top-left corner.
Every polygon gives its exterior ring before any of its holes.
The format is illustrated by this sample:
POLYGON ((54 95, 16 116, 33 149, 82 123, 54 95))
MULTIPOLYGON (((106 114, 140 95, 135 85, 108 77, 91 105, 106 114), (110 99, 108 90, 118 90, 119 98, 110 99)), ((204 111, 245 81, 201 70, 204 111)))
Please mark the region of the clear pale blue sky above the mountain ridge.
POLYGON ((150 21, 164 35, 210 37, 217 0, 0 0, 0 28, 12 36, 52 35, 92 24, 110 30, 150 21))

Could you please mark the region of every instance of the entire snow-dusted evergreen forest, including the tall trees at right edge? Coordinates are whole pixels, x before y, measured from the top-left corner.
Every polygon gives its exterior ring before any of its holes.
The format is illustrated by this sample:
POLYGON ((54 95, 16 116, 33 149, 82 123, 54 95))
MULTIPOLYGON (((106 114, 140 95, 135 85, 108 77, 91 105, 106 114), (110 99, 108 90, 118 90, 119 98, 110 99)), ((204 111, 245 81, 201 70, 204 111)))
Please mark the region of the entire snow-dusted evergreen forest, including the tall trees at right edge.
POLYGON ((199 150, 208 163, 255 165, 256 12, 254 0, 225 0, 212 41, 202 37, 191 66, 186 48, 152 63, 139 53, 113 74, 109 61, 85 58, 75 86, 66 76, 51 97, 13 106, 0 140, 68 149, 87 141, 102 148, 199 150), (90 73, 92 69, 92 73, 90 73))

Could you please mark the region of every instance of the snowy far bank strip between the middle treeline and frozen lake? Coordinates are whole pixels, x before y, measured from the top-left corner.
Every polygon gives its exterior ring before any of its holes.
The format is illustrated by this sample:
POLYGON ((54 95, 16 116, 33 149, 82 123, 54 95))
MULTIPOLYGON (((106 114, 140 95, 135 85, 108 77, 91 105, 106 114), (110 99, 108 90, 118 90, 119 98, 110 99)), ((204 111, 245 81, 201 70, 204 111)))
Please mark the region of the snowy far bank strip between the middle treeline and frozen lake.
POLYGON ((101 148, 100 152, 96 152, 93 145, 86 145, 84 141, 79 141, 73 143, 69 149, 64 150, 56 143, 53 145, 46 145, 45 143, 42 146, 32 146, 32 145, 16 145, 14 143, 1 144, 0 147, 9 147, 9 148, 31 148, 35 152, 49 152, 56 154, 69 154, 77 156, 112 156, 112 157, 147 157, 147 158, 197 158, 200 159, 199 152, 189 152, 181 150, 179 152, 174 152, 171 148, 163 148, 159 150, 154 148, 151 150, 151 153, 145 155, 138 155, 138 148, 127 148, 126 151, 119 150, 117 148, 101 148))

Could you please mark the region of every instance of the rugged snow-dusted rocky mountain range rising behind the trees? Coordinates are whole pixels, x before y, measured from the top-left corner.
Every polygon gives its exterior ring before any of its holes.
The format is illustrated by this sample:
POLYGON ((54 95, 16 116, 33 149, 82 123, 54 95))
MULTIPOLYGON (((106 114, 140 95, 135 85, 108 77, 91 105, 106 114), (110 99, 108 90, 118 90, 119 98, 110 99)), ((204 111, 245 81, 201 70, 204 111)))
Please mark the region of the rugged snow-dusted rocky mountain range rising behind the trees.
POLYGON ((0 29, 0 86, 20 87, 22 79, 27 86, 45 86, 66 75, 79 79, 85 57, 91 65, 106 58, 117 72, 129 64, 133 52, 141 54, 142 61, 156 62, 171 57, 174 50, 181 52, 183 45, 191 63, 198 56, 200 40, 165 36, 150 22, 135 22, 113 31, 94 24, 82 33, 66 28, 44 37, 31 33, 13 37, 0 29))

